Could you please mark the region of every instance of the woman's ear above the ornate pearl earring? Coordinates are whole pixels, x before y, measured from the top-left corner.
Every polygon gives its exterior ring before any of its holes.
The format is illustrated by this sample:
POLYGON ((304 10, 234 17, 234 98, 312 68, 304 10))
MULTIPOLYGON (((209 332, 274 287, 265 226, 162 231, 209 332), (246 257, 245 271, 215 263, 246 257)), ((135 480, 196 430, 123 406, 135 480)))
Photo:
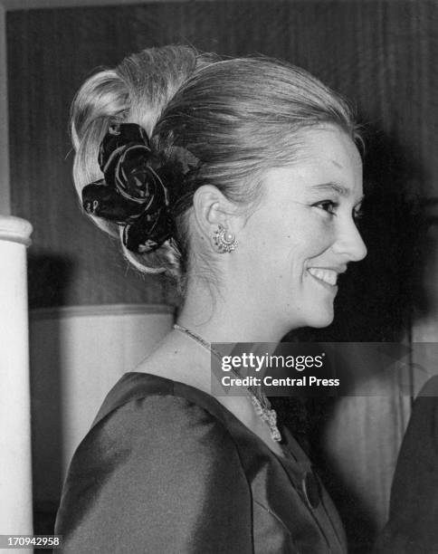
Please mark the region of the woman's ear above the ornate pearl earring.
POLYGON ((225 198, 215 186, 203 185, 197 188, 193 198, 193 207, 197 232, 212 246, 214 246, 215 233, 220 228, 224 228, 228 234, 236 233, 237 206, 225 198))

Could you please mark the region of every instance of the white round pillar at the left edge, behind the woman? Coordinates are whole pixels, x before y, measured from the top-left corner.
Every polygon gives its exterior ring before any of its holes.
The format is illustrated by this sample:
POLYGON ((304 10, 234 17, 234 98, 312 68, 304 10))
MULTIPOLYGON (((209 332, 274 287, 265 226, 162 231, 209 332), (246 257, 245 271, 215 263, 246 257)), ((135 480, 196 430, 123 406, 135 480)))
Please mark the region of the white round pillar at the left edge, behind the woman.
POLYGON ((33 533, 26 279, 31 233, 24 219, 0 216, 0 534, 33 533))

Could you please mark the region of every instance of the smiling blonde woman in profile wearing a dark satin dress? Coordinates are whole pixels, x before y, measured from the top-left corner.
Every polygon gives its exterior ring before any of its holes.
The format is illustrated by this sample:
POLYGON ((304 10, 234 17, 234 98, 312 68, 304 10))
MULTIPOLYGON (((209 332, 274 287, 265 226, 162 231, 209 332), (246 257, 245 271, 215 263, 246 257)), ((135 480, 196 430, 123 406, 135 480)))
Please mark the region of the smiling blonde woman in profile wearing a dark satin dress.
POLYGON ((286 63, 169 46, 91 77, 72 137, 84 209, 138 269, 176 277, 184 303, 73 457, 64 551, 345 552, 265 396, 211 395, 210 344, 333 319, 338 273, 366 255, 348 106, 286 63))

